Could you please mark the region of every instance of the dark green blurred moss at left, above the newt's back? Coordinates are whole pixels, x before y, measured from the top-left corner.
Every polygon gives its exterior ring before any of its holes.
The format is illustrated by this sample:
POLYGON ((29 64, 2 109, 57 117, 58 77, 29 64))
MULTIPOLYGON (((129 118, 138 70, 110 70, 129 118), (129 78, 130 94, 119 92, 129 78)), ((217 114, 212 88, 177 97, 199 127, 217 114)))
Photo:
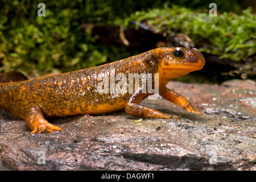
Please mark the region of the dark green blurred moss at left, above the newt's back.
POLYGON ((46 16, 38 16, 38 2, 0 2, 0 72, 11 70, 38 76, 103 64, 128 55, 124 48, 97 42, 90 25, 121 24, 122 18, 162 0, 43 1, 46 16), (114 51, 114 52, 112 52, 114 51), (115 54, 116 53, 116 54, 115 54), (121 56, 125 53, 123 56, 121 56), (116 56, 118 55, 118 56, 116 56), (115 59, 114 59, 115 58, 115 59))

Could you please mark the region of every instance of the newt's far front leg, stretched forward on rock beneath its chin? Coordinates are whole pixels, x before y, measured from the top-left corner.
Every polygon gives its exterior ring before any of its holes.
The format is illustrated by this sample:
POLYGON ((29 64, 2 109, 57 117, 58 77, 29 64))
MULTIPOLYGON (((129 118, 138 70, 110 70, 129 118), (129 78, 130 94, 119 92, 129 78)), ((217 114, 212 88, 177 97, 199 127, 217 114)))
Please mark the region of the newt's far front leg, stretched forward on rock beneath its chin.
POLYGON ((177 92, 174 92, 167 87, 161 90, 161 92, 159 92, 159 95, 163 98, 166 98, 168 101, 173 102, 174 104, 182 106, 183 109, 185 109, 187 112, 200 113, 191 105, 191 103, 185 97, 181 96, 181 94, 178 94, 177 92))

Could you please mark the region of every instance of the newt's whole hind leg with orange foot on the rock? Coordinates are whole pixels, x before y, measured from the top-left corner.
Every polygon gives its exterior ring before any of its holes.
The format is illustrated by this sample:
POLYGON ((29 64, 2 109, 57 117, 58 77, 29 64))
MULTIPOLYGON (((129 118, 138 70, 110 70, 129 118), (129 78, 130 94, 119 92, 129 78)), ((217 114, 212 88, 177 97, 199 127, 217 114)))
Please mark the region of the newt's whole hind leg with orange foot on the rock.
POLYGON ((53 130, 61 130, 60 127, 51 125, 43 117, 43 111, 37 104, 31 103, 26 108, 25 119, 27 126, 32 130, 31 134, 41 133, 42 131, 52 133, 53 130))

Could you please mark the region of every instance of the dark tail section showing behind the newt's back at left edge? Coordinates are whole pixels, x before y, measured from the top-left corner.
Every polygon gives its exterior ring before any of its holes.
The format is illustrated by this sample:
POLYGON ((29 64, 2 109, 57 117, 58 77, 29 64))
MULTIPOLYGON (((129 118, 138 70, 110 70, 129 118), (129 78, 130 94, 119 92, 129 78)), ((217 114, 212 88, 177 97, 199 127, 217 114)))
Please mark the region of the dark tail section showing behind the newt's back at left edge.
POLYGON ((10 71, 6 73, 0 74, 0 83, 9 83, 9 82, 17 82, 17 81, 25 81, 29 80, 25 75, 21 72, 10 71))

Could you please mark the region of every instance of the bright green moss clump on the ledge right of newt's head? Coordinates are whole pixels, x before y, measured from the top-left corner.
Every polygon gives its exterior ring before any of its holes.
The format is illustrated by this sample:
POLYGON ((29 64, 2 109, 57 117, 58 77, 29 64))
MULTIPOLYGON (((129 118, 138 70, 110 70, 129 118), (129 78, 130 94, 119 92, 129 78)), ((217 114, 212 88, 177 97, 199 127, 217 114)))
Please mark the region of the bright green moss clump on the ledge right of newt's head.
POLYGON ((139 22, 143 22, 159 34, 182 32, 193 40, 201 52, 217 55, 219 59, 245 64, 256 59, 256 15, 251 13, 250 8, 239 15, 224 12, 209 16, 209 13, 173 5, 164 9, 137 11, 126 18, 126 26, 131 20, 137 21, 137 27, 139 22))

